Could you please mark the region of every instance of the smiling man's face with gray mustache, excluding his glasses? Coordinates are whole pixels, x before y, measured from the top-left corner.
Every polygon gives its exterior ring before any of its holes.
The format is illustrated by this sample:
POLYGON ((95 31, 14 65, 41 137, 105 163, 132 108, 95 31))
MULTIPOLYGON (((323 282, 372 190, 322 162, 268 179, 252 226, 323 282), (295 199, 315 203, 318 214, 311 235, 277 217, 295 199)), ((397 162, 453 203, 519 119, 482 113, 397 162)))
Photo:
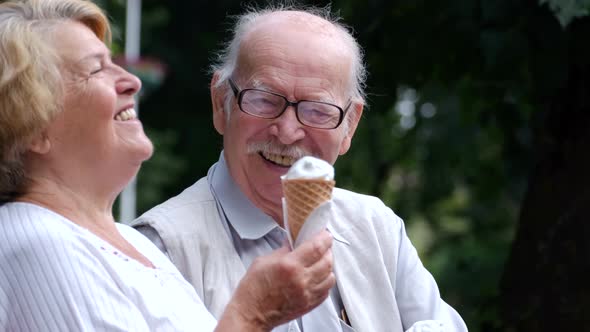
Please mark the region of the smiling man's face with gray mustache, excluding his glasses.
MULTIPOLYGON (((351 100, 350 56, 339 37, 292 24, 265 23, 242 44, 234 74, 239 89, 258 88, 290 101, 324 101, 344 109, 351 100)), ((214 122, 224 136, 230 173, 258 208, 282 224, 280 176, 304 155, 334 164, 348 151, 362 103, 353 102, 349 107, 349 119, 344 120, 348 124, 326 130, 299 123, 293 107, 276 119, 254 117, 240 111, 236 98, 228 119, 222 111, 224 93, 232 92, 229 87, 213 91, 214 122)))

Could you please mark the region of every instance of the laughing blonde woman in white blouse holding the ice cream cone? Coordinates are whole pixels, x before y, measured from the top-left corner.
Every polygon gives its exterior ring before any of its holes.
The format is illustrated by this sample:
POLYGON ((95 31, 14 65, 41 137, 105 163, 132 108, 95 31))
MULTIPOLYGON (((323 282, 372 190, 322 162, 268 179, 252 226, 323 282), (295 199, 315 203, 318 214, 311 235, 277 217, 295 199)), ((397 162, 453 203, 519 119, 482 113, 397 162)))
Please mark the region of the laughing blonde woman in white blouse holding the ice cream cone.
POLYGON ((0 4, 0 330, 267 331, 334 285, 331 237, 257 260, 219 322, 112 205, 152 154, 89 1, 0 4))

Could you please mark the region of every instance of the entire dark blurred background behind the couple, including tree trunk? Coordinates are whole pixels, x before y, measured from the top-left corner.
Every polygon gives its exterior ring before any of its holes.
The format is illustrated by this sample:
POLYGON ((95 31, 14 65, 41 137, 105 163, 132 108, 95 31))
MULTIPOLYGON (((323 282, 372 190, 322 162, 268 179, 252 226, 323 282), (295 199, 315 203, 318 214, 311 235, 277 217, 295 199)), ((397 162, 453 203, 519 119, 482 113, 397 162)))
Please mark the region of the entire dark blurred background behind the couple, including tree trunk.
MULTIPOLYGON (((120 53, 125 1, 97 2, 112 17, 120 53)), ((146 87, 140 113, 156 153, 139 174, 139 212, 217 160, 208 66, 227 41, 228 16, 265 3, 143 1, 147 64, 131 69, 146 87)), ((579 265, 590 262, 590 249, 574 235, 590 187, 590 1, 331 7, 354 29, 370 72, 368 108, 336 164, 338 185, 381 197, 405 220, 471 331, 590 331, 588 300, 572 295, 588 290, 590 270, 579 265), (578 265, 554 265, 562 254, 578 265), (545 294, 550 288, 555 294, 545 294)))

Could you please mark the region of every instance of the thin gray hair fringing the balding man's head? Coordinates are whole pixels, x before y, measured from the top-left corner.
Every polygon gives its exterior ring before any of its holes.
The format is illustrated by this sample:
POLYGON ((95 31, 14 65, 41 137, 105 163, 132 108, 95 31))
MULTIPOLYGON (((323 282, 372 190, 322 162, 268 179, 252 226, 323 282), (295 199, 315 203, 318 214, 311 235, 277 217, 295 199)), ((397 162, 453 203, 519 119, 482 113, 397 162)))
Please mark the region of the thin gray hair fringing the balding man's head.
MULTIPOLYGON (((367 78, 367 71, 363 61, 363 50, 352 36, 349 27, 341 23, 341 18, 333 13, 329 6, 326 7, 311 7, 301 6, 290 2, 272 4, 263 9, 249 7, 244 14, 235 17, 236 23, 233 26, 232 38, 225 45, 225 47, 216 55, 216 60, 211 66, 213 73, 218 73, 218 80, 215 87, 220 87, 226 84, 236 70, 240 46, 244 37, 256 26, 261 18, 281 11, 300 11, 314 16, 323 18, 324 20, 333 24, 336 31, 340 32, 343 41, 348 45, 351 55, 351 73, 350 73, 350 95, 355 99, 365 101, 365 81, 367 78)), ((231 94, 227 94, 227 102, 231 101, 231 94)), ((229 110, 226 102, 226 110, 229 110)))

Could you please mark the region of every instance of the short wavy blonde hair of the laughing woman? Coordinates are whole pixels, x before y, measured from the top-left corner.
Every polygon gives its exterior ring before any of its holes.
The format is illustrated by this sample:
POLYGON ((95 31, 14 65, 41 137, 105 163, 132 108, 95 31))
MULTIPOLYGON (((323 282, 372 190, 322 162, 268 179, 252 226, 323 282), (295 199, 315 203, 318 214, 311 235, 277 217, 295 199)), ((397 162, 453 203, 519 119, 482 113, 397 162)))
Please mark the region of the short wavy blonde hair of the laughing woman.
POLYGON ((0 4, 0 204, 26 190, 27 147, 62 110, 60 59, 49 37, 64 21, 80 22, 110 44, 108 19, 90 1, 0 4))

